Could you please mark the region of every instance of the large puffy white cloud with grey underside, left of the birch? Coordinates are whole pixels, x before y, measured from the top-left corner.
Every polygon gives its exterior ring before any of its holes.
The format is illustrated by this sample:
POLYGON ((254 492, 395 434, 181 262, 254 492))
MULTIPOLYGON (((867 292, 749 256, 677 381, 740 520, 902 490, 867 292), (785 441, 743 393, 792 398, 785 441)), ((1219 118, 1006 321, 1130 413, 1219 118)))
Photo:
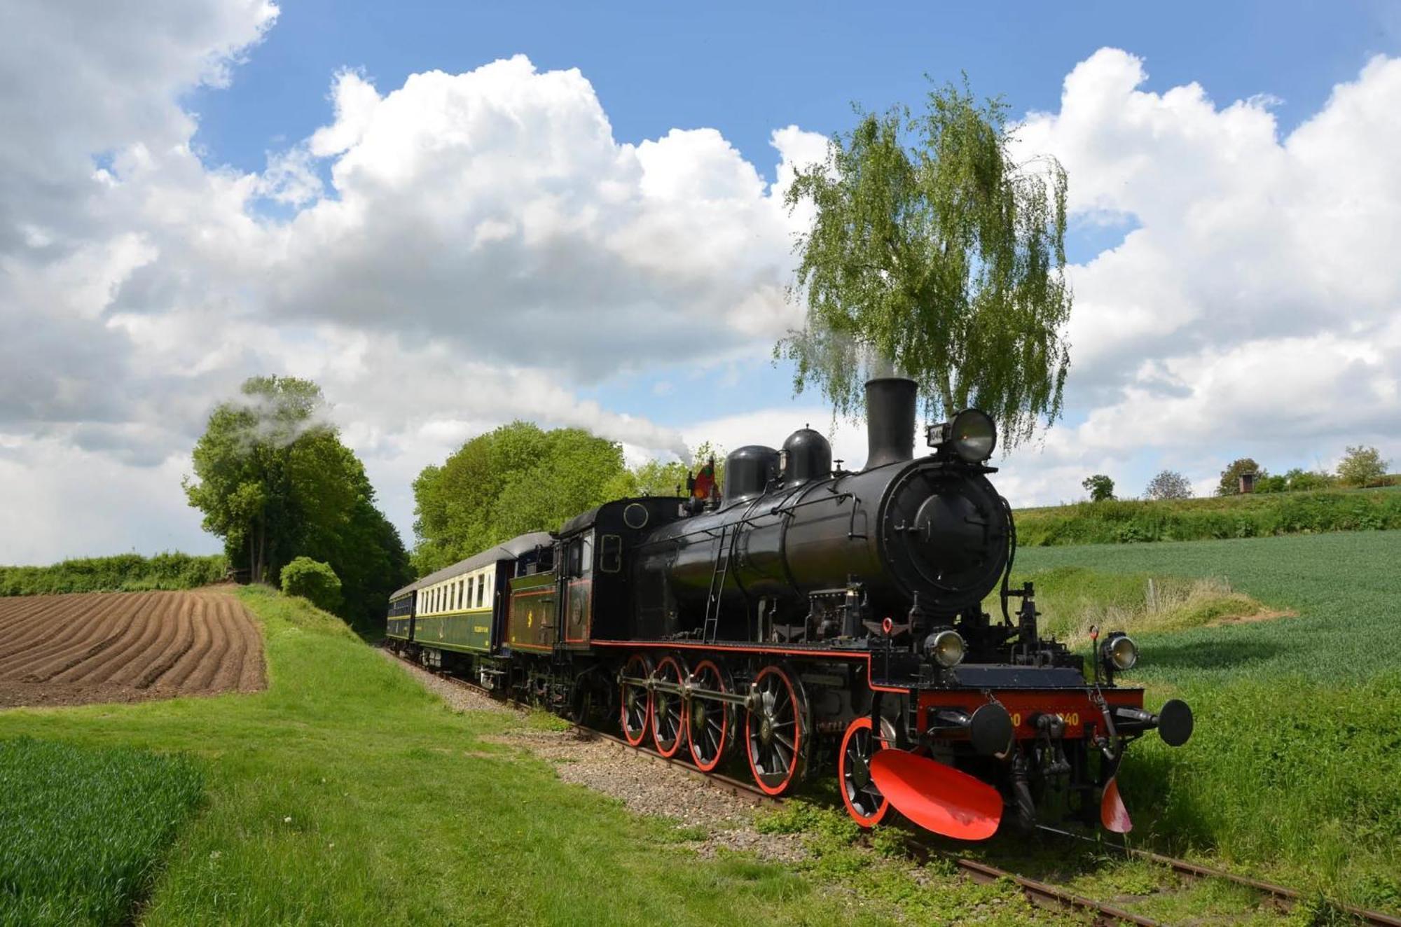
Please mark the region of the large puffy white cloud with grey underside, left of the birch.
MULTIPOLYGON (((785 186, 715 129, 619 143, 583 74, 524 56, 382 95, 343 71, 332 99, 335 120, 298 150, 331 160, 333 190, 277 230, 268 314, 576 381, 703 361, 796 322, 785 186)), ((775 133, 780 178, 814 137, 775 133)))

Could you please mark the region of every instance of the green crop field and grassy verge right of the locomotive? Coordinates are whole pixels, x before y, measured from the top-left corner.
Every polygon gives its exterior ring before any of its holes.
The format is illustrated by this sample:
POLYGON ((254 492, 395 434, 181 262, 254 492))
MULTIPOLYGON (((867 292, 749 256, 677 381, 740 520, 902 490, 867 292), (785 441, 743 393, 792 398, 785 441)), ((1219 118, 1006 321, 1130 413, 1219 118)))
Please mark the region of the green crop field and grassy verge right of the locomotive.
MULTIPOLYGON (((1401 910, 1398 563, 1401 532, 1366 532, 1027 549, 1014 578, 1045 590, 1045 611, 1080 588, 1101 613, 1142 613, 1154 576, 1188 587, 1226 577, 1296 612, 1135 629, 1142 661, 1126 681, 1146 683, 1150 704, 1178 696, 1196 713, 1187 746, 1149 737, 1125 763, 1135 837, 1401 910)), ((1056 620, 1075 626, 1075 609, 1056 620)))

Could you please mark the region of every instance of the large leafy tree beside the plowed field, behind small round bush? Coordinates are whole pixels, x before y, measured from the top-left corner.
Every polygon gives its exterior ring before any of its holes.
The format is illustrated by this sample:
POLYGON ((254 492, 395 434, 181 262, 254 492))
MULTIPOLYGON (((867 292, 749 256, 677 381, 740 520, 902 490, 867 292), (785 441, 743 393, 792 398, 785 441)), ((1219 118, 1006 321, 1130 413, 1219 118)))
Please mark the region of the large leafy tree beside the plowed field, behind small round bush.
POLYGON ((321 388, 293 377, 254 377, 220 403, 195 444, 189 504, 224 539, 231 563, 276 583, 293 557, 331 564, 339 613, 354 623, 384 615, 408 581, 398 531, 374 507, 364 466, 325 419, 321 388))

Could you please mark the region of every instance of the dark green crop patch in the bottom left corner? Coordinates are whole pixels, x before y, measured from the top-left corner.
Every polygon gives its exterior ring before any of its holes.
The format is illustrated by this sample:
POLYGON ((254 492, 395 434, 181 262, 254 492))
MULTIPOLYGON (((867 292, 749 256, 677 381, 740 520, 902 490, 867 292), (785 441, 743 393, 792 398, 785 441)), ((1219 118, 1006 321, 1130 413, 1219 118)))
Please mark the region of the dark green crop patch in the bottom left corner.
POLYGON ((202 786, 178 756, 0 741, 0 923, 127 923, 202 786))

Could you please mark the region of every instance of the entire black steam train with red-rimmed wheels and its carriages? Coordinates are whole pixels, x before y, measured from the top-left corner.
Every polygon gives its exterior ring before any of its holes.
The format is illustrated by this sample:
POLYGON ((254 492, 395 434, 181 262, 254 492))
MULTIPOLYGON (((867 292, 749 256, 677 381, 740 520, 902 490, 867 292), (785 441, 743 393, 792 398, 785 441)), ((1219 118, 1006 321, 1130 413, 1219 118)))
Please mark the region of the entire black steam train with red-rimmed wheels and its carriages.
POLYGON ((1089 678, 1040 636, 1031 584, 1009 587, 991 417, 930 426, 916 458, 913 381, 866 398, 864 469, 834 468, 808 428, 738 448, 723 493, 605 503, 396 591, 389 646, 703 772, 734 748, 772 795, 835 770, 863 826, 894 804, 964 839, 1005 807, 1126 830, 1125 746, 1150 730, 1184 744, 1191 710, 1146 711, 1115 682, 1138 660, 1122 633, 1096 640, 1089 678))

